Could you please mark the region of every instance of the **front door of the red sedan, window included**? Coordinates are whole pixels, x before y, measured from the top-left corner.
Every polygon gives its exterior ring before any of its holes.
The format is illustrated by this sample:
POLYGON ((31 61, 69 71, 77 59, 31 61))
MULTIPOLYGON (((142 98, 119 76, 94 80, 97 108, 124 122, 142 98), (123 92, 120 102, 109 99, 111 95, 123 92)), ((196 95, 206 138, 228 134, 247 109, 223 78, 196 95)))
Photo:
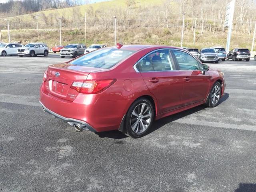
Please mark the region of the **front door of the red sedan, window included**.
POLYGON ((172 49, 172 54, 184 83, 182 105, 186 106, 205 100, 210 86, 209 73, 202 74, 202 64, 189 53, 172 49))

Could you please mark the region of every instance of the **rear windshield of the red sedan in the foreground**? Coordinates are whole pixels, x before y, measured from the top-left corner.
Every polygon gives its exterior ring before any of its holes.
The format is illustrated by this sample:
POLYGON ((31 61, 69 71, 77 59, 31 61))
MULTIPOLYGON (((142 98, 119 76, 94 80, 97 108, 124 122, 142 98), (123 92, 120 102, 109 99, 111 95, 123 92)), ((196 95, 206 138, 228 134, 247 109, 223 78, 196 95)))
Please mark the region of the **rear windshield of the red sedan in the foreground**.
POLYGON ((128 58, 134 52, 116 48, 99 49, 71 61, 70 64, 109 69, 118 62, 128 58))

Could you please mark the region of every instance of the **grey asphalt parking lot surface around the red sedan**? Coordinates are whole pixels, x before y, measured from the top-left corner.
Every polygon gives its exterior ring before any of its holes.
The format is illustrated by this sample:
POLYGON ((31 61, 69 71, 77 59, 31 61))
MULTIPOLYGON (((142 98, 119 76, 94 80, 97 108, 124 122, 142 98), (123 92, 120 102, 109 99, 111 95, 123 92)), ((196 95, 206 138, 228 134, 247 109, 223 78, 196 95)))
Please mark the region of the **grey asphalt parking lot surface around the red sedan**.
POLYGON ((256 191, 253 59, 209 64, 225 74, 220 104, 158 120, 140 139, 76 132, 43 112, 43 72, 67 60, 0 57, 0 191, 256 191))

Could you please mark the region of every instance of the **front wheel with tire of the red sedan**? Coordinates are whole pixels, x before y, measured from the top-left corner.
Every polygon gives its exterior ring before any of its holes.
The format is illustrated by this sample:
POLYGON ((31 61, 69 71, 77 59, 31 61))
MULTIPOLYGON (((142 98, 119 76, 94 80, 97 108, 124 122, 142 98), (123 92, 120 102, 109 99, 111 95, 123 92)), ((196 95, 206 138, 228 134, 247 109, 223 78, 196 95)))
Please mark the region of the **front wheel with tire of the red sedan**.
POLYGON ((206 106, 216 107, 220 101, 221 92, 220 82, 215 82, 206 101, 206 106))

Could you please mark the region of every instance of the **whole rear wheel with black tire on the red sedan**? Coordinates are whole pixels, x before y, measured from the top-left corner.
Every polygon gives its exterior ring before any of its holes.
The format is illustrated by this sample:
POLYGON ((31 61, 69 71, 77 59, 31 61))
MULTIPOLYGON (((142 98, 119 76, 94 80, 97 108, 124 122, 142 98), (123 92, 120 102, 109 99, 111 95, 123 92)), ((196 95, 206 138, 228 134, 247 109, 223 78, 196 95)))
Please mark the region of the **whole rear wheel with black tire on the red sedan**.
POLYGON ((154 119, 154 108, 146 98, 136 100, 126 114, 126 132, 132 138, 140 138, 150 130, 154 119))

